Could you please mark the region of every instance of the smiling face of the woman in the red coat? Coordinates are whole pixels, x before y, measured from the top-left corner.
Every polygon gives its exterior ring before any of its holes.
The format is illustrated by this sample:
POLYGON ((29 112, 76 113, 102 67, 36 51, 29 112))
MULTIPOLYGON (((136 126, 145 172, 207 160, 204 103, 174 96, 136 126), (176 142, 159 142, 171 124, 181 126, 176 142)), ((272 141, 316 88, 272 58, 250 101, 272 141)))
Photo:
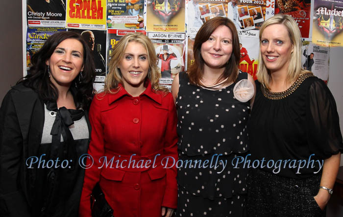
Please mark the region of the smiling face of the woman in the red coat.
POLYGON ((144 88, 144 81, 149 69, 147 50, 143 44, 129 42, 124 51, 123 60, 119 65, 123 78, 123 86, 131 92, 134 88, 144 88))

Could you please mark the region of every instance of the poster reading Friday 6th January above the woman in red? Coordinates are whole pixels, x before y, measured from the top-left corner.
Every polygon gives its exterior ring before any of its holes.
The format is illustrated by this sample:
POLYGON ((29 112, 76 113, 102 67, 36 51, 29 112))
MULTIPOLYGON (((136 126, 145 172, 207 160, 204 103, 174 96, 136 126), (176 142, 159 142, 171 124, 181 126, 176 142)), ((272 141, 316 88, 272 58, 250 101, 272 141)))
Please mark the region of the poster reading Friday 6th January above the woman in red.
POLYGON ((144 0, 107 0, 107 28, 144 29, 144 0))

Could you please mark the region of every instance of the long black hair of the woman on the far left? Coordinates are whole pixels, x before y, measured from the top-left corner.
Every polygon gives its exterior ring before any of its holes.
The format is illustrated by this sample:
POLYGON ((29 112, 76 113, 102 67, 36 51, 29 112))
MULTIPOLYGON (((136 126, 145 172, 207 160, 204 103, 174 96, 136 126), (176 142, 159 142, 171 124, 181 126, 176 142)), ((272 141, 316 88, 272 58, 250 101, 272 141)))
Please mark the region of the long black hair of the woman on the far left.
POLYGON ((88 109, 93 98, 93 83, 96 72, 92 52, 80 34, 76 32, 58 32, 51 35, 42 48, 32 56, 32 65, 25 79, 18 83, 23 83, 26 87, 34 89, 44 101, 56 101, 58 91, 50 81, 46 61, 50 59, 57 45, 66 39, 76 39, 83 47, 84 67, 82 76, 80 74, 76 76, 70 88, 73 92, 76 107, 78 109, 88 109))

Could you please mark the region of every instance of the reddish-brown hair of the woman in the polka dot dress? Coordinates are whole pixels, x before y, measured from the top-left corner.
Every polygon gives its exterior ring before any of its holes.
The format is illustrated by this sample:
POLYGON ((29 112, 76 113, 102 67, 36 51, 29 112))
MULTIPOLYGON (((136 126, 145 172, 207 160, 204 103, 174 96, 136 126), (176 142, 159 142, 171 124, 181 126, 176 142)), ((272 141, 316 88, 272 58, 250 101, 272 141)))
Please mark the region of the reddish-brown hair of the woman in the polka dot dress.
POLYGON ((193 45, 194 63, 188 69, 188 76, 190 83, 200 86, 200 79, 204 73, 205 61, 201 56, 201 45, 206 42, 211 34, 221 25, 228 27, 232 34, 232 54, 225 66, 224 73, 221 75, 218 81, 227 78, 227 84, 236 81, 239 71, 240 61, 240 46, 237 29, 235 24, 224 17, 213 18, 201 26, 196 33, 196 38, 193 45))

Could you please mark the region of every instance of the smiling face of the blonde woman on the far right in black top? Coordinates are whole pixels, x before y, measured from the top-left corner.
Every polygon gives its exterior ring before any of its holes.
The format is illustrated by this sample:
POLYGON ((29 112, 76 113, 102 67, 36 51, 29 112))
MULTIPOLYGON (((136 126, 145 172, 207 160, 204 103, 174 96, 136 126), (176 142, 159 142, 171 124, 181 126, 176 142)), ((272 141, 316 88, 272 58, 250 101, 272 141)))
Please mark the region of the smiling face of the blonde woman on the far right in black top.
POLYGON ((287 73, 293 49, 285 25, 271 24, 264 29, 260 50, 263 62, 271 73, 287 73))

